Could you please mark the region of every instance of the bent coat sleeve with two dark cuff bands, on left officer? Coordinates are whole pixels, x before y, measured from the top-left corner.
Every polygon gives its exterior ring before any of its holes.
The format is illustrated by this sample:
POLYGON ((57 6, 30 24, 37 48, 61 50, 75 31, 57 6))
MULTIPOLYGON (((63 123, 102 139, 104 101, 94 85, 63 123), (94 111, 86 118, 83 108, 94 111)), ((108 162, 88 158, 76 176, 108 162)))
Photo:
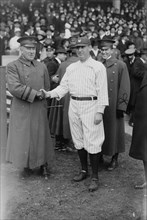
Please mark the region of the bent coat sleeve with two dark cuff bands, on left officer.
POLYGON ((37 91, 27 85, 24 85, 20 81, 19 72, 16 64, 10 63, 7 65, 6 79, 8 90, 13 96, 30 103, 34 101, 37 91))

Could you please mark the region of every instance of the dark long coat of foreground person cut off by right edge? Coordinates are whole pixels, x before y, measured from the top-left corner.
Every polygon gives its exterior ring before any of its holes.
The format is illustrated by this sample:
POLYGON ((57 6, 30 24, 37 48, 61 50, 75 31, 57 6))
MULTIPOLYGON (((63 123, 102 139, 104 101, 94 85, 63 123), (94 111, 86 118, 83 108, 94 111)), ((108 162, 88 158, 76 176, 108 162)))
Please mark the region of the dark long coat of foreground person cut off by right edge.
POLYGON ((147 162, 147 71, 137 93, 129 155, 147 162))

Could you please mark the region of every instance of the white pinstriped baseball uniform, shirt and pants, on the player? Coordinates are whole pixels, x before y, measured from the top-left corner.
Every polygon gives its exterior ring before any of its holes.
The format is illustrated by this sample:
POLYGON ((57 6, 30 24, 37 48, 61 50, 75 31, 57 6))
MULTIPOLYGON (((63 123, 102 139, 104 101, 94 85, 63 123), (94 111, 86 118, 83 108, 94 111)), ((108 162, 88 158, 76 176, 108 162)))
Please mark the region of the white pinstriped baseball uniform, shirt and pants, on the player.
POLYGON ((97 97, 97 100, 70 100, 69 121, 76 149, 88 153, 101 151, 104 141, 103 122, 94 124, 96 112, 103 113, 108 105, 107 75, 104 65, 89 57, 67 67, 60 85, 52 90, 51 98, 62 98, 67 92, 71 97, 97 97))

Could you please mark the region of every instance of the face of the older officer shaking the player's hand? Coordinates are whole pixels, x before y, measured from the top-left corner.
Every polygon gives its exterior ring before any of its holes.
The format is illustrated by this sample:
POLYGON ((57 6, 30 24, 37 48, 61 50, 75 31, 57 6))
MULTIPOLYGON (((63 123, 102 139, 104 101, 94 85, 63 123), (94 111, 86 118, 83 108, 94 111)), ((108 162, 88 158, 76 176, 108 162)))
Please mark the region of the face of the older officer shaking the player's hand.
POLYGON ((26 60, 32 61, 36 55, 36 46, 21 46, 21 52, 26 60))

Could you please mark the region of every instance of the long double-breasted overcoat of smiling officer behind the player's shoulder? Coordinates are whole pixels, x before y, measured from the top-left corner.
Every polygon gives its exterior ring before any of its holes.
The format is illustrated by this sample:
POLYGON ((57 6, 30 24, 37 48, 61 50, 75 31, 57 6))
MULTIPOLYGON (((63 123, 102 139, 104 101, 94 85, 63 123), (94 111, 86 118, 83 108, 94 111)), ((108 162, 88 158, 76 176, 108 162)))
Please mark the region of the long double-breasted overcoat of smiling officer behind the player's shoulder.
POLYGON ((102 153, 112 156, 125 151, 124 119, 117 118, 116 111, 126 111, 130 96, 130 80, 123 61, 109 58, 104 63, 108 77, 109 106, 104 111, 105 141, 102 153))

